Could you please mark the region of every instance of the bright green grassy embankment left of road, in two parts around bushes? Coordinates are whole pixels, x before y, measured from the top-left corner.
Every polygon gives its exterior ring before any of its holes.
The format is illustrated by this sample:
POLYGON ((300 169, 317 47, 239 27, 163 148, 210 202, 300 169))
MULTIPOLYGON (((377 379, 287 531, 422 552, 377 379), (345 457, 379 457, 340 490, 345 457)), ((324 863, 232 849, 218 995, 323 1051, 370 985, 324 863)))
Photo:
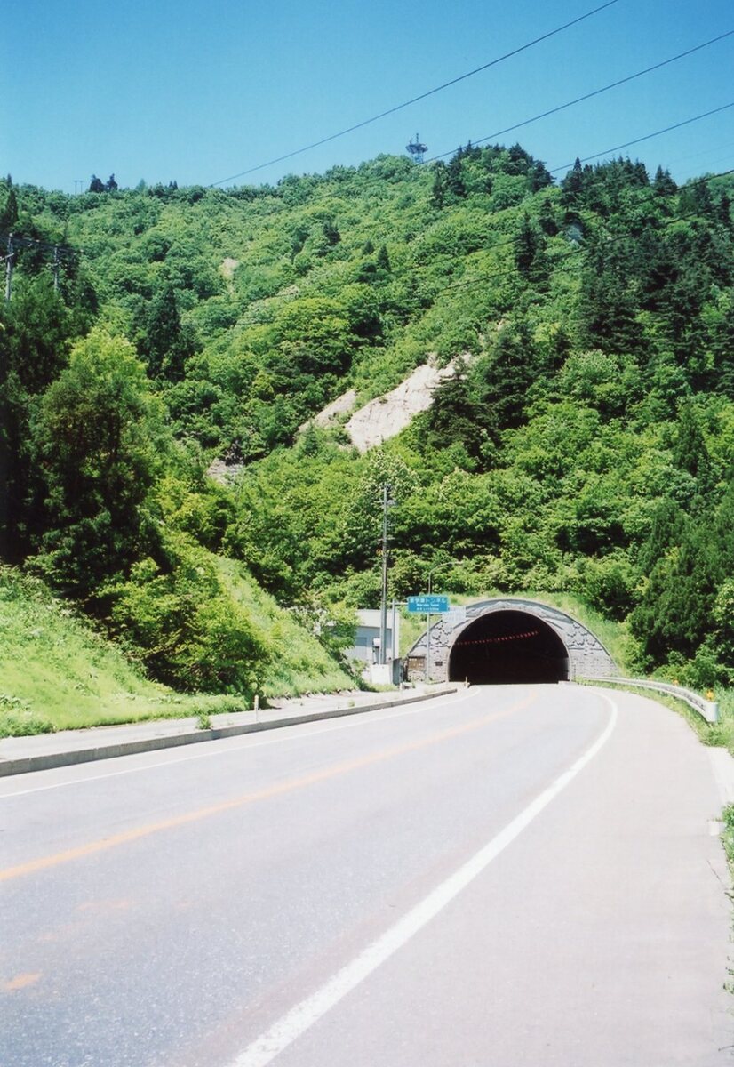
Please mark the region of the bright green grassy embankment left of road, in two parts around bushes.
MULTIPOLYGON (((264 696, 331 691, 351 685, 321 646, 272 598, 222 560, 233 598, 272 641, 264 696)), ((0 736, 243 711, 243 699, 180 694, 147 679, 46 587, 0 569, 0 736)))

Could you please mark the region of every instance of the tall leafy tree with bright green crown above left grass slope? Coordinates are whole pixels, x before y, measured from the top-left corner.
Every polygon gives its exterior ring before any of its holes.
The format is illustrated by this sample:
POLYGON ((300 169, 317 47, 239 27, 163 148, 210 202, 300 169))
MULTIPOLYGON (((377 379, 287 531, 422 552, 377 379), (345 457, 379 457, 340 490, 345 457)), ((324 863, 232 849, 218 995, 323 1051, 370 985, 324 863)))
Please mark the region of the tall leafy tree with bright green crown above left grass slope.
POLYGON ((93 330, 44 394, 33 429, 47 512, 37 566, 62 591, 96 593, 143 547, 157 436, 134 349, 93 330))

